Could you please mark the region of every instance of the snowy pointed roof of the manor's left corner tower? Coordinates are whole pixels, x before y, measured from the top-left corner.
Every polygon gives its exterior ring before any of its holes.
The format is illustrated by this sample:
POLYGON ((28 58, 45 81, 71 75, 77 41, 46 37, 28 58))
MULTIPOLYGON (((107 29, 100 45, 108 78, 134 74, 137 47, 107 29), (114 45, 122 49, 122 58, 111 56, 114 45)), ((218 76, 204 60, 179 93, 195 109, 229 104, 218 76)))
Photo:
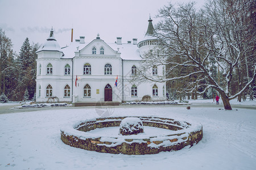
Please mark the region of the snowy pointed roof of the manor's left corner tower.
POLYGON ((53 36, 53 30, 51 30, 47 41, 40 46, 36 53, 38 54, 38 58, 61 58, 63 56, 60 45, 53 36))

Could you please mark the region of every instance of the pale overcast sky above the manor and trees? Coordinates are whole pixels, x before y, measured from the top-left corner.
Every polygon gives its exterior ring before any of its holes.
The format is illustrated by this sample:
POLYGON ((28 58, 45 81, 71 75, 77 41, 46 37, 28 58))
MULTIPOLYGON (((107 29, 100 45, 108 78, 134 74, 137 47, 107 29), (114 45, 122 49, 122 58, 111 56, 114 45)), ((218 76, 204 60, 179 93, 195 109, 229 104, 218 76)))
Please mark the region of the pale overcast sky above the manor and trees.
MULTIPOLYGON (((85 36, 90 42, 97 33, 105 42, 122 42, 134 38, 142 39, 147 31, 151 14, 153 24, 158 10, 168 2, 183 3, 190 0, 0 0, 0 28, 13 42, 19 53, 26 37, 30 43, 43 44, 53 27, 54 36, 60 46, 85 36)), ((196 6, 205 0, 197 0, 196 6)))

